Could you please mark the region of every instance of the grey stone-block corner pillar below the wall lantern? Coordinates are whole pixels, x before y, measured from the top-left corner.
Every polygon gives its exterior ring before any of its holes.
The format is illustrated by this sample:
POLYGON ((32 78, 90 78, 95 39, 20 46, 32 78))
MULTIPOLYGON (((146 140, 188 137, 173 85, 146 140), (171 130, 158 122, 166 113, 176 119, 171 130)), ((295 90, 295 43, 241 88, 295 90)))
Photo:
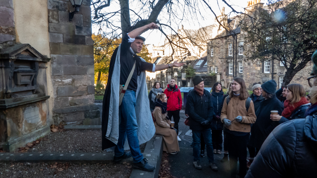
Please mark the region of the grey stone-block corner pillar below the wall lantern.
POLYGON ((74 8, 69 1, 48 0, 48 11, 54 122, 101 124, 94 105, 90 0, 83 1, 72 22, 69 12, 74 8))

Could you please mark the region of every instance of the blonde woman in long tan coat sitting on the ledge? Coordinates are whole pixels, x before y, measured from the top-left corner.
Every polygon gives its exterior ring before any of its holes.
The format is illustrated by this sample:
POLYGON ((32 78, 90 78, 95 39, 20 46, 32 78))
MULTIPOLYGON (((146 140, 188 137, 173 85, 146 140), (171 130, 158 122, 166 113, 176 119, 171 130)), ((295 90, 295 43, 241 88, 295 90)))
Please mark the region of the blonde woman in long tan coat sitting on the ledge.
POLYGON ((164 93, 157 94, 156 107, 153 111, 153 118, 156 120, 155 134, 163 135, 163 151, 176 154, 179 151, 176 131, 171 128, 171 121, 167 116, 167 97, 164 93))

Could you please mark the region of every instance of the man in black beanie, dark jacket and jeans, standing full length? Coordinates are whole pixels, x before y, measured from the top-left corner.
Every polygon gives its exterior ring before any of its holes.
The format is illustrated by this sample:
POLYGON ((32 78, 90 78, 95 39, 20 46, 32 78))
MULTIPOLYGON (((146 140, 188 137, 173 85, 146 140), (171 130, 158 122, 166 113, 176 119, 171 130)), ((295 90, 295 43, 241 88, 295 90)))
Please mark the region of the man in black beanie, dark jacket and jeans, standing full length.
POLYGON ((199 157, 200 137, 203 135, 205 144, 207 145, 207 156, 209 166, 213 171, 217 171, 217 165, 214 162, 214 154, 212 152, 210 123, 214 113, 210 93, 204 89, 204 81, 201 77, 195 76, 193 79, 194 90, 187 95, 186 109, 190 117, 189 128, 193 134, 193 155, 194 166, 196 169, 202 169, 199 157))

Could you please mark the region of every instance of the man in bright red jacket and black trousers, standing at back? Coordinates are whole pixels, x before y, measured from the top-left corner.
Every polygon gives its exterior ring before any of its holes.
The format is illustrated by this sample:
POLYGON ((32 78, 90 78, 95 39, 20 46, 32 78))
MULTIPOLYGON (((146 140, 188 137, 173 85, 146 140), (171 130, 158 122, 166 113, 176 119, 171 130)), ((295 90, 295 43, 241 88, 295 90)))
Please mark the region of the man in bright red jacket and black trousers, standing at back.
MULTIPOLYGON (((178 122, 179 122, 179 111, 182 109, 182 95, 177 87, 176 79, 171 78, 170 84, 167 85, 167 88, 164 90, 164 93, 167 97, 167 116, 168 119, 172 119, 175 122, 174 128, 178 130, 178 122)), ((177 136, 178 141, 182 141, 177 136)))

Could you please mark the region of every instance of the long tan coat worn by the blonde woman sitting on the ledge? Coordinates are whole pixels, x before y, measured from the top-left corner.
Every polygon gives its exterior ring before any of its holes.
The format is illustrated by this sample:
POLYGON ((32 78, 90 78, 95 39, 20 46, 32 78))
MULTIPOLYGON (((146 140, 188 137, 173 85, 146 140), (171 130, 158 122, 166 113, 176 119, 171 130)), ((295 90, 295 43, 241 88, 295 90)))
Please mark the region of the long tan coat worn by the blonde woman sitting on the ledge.
POLYGON ((172 153, 179 151, 176 131, 170 129, 171 121, 166 118, 167 113, 162 114, 160 107, 155 107, 153 117, 156 119, 155 134, 163 135, 163 151, 172 153))

